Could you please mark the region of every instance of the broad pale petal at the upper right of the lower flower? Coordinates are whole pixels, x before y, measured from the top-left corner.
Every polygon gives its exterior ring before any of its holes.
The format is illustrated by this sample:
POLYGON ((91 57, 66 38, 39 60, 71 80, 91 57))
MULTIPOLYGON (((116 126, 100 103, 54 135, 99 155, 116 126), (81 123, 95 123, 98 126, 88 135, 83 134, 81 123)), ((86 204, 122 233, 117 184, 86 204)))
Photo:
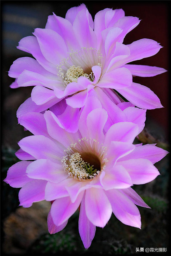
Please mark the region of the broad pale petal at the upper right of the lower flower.
POLYGON ((130 122, 120 122, 112 125, 106 133, 105 143, 109 145, 111 141, 121 141, 133 143, 138 135, 138 126, 130 122))

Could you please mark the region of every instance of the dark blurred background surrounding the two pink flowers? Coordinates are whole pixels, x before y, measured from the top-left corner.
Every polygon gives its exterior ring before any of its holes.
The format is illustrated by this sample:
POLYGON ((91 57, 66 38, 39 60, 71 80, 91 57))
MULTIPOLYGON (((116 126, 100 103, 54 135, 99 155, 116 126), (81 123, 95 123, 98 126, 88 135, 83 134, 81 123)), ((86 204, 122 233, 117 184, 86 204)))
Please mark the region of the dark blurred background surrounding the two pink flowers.
MULTIPOLYGON (((150 58, 134 64, 159 66, 170 69, 170 1, 1 1, 1 179, 18 159, 17 142, 29 135, 17 125, 17 108, 30 97, 31 87, 11 89, 14 81, 8 71, 14 60, 31 57, 16 48, 18 41, 32 35, 34 29, 44 28, 48 15, 54 12, 65 17, 71 7, 85 3, 93 19, 105 8, 120 9, 126 16, 136 16, 140 24, 124 39, 130 44, 141 38, 158 41, 162 49, 150 58)), ((149 87, 160 98, 164 108, 148 110, 146 131, 151 141, 168 149, 170 136, 169 72, 154 77, 134 77, 133 81, 149 87)), ((104 229, 97 228, 91 247, 85 250, 78 233, 78 212, 60 233, 50 235, 47 230, 47 202, 34 203, 30 208, 18 207, 18 189, 1 184, 2 255, 66 255, 66 254, 143 254, 137 247, 167 248, 170 239, 170 184, 169 157, 156 164, 161 175, 153 182, 133 188, 152 209, 139 207, 142 230, 129 227, 112 216, 104 229)), ((157 253, 157 255, 160 253, 157 253)), ((161 254, 164 254, 161 252, 161 254)), ((167 254, 167 253, 165 253, 167 254)), ((148 254, 150 255, 150 253, 148 254)), ((169 254, 168 254, 169 255, 169 254)))

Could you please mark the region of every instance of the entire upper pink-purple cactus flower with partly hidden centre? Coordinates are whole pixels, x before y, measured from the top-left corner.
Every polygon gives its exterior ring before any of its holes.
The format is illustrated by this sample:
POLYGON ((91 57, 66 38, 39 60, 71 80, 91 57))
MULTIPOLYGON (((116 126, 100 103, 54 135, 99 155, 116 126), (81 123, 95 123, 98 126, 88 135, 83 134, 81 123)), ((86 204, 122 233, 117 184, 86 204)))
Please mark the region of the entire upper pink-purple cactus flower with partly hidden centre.
POLYGON ((50 15, 44 29, 36 28, 34 36, 21 39, 17 47, 35 59, 19 58, 9 71, 9 76, 16 78, 12 88, 35 86, 31 98, 18 109, 17 117, 42 112, 56 104, 57 112, 63 108, 58 118, 66 129, 63 116, 70 112, 78 120, 79 109, 87 104, 92 90, 100 101, 107 95, 106 100, 118 104, 123 101, 118 92, 139 108, 161 108, 159 98, 146 86, 133 83, 132 76, 155 76, 166 70, 127 64, 153 56, 161 48, 146 38, 123 44, 126 34, 139 22, 137 17, 124 16, 122 9, 108 8, 98 12, 93 22, 84 4, 69 9, 65 19, 50 15))

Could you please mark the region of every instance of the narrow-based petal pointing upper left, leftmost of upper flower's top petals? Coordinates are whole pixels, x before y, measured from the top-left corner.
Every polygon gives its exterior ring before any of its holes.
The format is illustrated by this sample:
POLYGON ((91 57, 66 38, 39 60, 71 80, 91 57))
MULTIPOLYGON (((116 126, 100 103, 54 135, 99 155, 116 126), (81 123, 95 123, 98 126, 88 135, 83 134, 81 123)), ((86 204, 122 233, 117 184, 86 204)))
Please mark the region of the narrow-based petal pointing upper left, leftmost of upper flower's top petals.
POLYGON ((39 62, 40 65, 43 66, 44 69, 56 75, 56 66, 44 58, 36 37, 27 36, 22 38, 19 41, 19 45, 17 48, 19 50, 31 53, 32 56, 39 62))

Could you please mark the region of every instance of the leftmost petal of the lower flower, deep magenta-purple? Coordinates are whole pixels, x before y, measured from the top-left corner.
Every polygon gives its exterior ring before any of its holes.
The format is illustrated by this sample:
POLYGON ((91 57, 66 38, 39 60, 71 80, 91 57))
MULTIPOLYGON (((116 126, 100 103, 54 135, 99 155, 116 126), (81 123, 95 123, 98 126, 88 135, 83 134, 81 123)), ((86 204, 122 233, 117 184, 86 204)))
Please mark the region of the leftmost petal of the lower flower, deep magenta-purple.
POLYGON ((32 163, 31 161, 21 161, 11 166, 7 172, 6 179, 4 181, 10 184, 11 187, 22 187, 27 182, 31 181, 27 176, 26 168, 32 163))

